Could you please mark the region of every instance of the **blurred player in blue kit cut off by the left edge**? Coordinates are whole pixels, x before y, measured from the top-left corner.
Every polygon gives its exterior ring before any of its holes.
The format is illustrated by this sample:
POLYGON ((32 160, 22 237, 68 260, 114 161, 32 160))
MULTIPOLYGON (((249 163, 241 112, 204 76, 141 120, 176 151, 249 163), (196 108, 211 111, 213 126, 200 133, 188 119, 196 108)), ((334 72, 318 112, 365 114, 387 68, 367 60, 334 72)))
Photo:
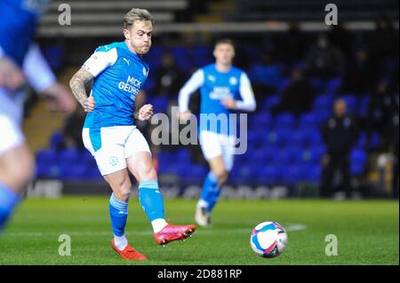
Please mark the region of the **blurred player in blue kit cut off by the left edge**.
POLYGON ((0 1, 0 230, 35 172, 21 130, 23 85, 29 83, 36 93, 50 98, 53 111, 72 112, 76 105, 32 42, 37 21, 49 2, 0 1))

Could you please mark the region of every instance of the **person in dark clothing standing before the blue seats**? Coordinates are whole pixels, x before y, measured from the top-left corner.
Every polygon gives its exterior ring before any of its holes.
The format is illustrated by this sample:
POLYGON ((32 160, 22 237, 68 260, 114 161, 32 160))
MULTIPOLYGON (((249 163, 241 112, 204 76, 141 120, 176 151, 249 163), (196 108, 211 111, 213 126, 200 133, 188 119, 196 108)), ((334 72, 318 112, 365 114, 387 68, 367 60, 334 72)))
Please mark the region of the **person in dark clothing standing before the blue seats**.
POLYGON ((354 120, 347 113, 346 101, 337 99, 333 105, 333 116, 326 122, 322 132, 327 148, 322 161, 322 197, 332 195, 332 180, 337 171, 341 173, 341 187, 348 196, 352 193, 349 153, 356 144, 357 131, 354 120))

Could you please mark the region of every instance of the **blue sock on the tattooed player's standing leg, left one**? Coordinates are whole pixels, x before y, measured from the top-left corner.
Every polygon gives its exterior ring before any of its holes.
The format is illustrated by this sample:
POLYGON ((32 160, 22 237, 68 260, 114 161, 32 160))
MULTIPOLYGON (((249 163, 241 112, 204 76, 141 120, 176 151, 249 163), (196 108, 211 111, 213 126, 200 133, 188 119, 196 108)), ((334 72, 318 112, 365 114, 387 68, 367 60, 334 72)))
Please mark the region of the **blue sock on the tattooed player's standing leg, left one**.
POLYGON ((109 198, 109 216, 114 235, 124 236, 126 219, 128 219, 128 202, 116 200, 114 193, 109 198))

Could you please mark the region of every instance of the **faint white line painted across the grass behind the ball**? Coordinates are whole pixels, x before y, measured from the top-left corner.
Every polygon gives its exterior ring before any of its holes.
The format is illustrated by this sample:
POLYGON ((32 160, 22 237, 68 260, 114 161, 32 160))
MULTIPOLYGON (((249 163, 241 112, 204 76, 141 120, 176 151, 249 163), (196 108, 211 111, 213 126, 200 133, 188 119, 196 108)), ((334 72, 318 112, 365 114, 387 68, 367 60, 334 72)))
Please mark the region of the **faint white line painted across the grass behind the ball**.
MULTIPOLYGON (((289 224, 286 225, 285 230, 288 232, 293 232, 293 231, 301 231, 301 230, 306 230, 308 227, 304 224, 289 224)), ((217 229, 217 230, 212 230, 212 227, 210 228, 204 228, 197 230, 197 233, 201 234, 219 234, 219 233, 226 233, 226 232, 237 232, 237 233, 250 233, 252 232, 252 229, 217 229)), ((61 234, 67 234, 69 236, 109 236, 112 234, 112 232, 106 232, 106 231, 99 231, 99 232, 93 232, 93 231, 88 231, 88 232, 4 232, 3 235, 0 235, 0 240, 2 238, 12 238, 12 237, 59 237, 61 234)), ((151 231, 126 231, 126 235, 140 235, 140 236, 148 236, 152 235, 153 232, 151 231)))

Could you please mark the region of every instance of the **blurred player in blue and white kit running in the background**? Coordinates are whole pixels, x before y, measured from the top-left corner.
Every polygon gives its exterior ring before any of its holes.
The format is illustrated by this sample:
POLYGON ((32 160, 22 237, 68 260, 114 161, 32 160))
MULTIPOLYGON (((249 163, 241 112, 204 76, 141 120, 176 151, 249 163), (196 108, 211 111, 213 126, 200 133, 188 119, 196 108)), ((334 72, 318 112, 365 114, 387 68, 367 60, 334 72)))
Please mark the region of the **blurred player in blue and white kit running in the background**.
MULTIPOLYGON (((254 111, 256 102, 247 75, 232 66, 235 47, 229 39, 215 44, 215 64, 200 68, 180 90, 180 118, 188 119, 190 95, 200 88, 200 115, 226 116, 226 127, 210 126, 207 119, 200 119, 199 140, 211 171, 204 180, 203 191, 196 206, 196 223, 211 224, 212 208, 220 197, 220 188, 233 167, 235 136, 229 132, 229 114, 236 110, 254 111)), ((215 117, 214 116, 214 117, 215 117)), ((211 121, 212 122, 212 121, 211 121)))

